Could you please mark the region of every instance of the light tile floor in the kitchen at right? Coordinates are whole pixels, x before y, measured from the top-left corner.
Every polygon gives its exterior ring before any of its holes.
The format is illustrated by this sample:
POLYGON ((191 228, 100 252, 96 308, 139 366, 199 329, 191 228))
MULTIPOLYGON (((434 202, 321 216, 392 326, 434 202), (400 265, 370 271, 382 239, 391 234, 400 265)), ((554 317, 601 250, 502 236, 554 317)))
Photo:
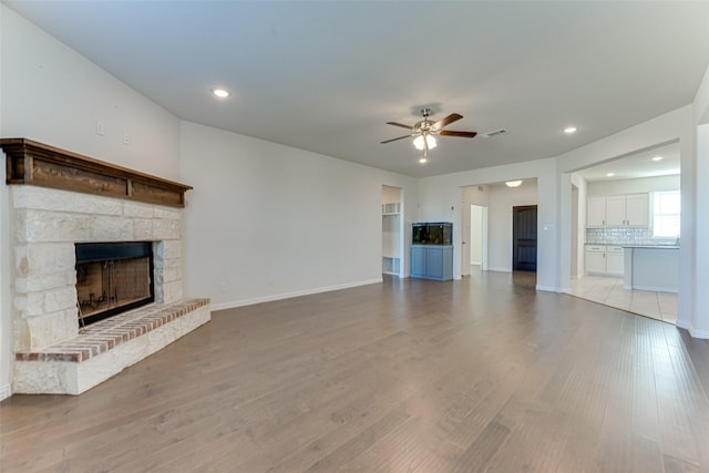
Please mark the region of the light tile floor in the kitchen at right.
POLYGON ((624 289, 623 278, 584 276, 572 280, 571 294, 668 323, 677 321, 677 294, 624 289))

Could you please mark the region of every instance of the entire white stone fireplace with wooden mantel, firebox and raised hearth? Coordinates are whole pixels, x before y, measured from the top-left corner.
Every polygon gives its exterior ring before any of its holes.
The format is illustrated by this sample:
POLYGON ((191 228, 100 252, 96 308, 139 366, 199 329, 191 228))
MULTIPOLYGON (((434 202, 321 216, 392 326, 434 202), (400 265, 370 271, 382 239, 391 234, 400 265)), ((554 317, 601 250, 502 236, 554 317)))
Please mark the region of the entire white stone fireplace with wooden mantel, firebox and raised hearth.
POLYGON ((183 294, 189 186, 30 140, 0 147, 13 236, 12 392, 80 394, 209 321, 209 300, 183 294), (96 322, 80 328, 81 319, 96 322))

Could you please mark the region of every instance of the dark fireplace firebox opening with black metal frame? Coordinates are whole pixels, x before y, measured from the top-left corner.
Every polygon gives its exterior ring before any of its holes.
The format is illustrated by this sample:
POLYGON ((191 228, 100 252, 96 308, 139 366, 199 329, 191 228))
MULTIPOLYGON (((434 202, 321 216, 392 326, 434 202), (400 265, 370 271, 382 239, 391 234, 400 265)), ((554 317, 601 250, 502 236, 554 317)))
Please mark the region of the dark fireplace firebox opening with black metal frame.
POLYGON ((155 300, 152 241, 78 243, 80 327, 155 300))

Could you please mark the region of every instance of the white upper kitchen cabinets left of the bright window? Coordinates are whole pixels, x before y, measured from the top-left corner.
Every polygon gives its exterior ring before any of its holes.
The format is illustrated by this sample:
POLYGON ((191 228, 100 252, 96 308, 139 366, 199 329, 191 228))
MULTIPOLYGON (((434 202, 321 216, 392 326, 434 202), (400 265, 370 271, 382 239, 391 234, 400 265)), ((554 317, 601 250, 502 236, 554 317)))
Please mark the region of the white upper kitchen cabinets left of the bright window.
POLYGON ((627 194, 588 197, 587 227, 647 227, 649 195, 627 194))

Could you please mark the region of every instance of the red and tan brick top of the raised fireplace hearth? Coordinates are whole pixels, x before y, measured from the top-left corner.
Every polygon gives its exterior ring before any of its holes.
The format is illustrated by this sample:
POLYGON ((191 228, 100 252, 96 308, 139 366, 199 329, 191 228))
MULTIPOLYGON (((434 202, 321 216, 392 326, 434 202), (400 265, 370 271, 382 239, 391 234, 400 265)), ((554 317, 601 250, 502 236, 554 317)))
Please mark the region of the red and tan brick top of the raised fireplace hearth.
POLYGON ((18 352, 16 360, 80 363, 207 305, 209 305, 208 298, 198 298, 141 307, 92 323, 81 329, 76 337, 60 343, 37 351, 18 352))

